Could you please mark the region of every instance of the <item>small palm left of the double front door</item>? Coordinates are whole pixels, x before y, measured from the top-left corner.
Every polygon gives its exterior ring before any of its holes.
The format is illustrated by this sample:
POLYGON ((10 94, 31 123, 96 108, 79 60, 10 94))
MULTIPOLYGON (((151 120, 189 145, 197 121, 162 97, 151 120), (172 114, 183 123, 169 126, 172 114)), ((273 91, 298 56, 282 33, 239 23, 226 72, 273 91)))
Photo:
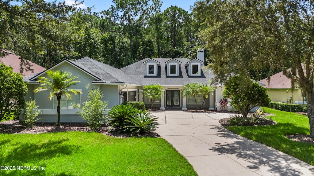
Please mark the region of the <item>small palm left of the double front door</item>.
POLYGON ((157 98, 162 96, 162 86, 159 84, 145 85, 143 86, 143 96, 150 98, 150 109, 153 109, 154 102, 157 98))

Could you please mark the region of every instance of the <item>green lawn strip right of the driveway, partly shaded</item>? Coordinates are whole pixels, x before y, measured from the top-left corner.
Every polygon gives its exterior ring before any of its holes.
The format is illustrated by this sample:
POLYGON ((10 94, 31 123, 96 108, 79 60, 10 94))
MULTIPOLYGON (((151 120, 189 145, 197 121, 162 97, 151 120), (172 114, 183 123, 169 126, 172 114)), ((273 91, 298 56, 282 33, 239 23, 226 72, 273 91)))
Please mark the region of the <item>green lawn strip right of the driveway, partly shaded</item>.
POLYGON ((286 134, 310 134, 308 117, 270 108, 264 108, 264 110, 275 114, 271 117, 277 122, 276 125, 226 128, 314 165, 314 144, 295 142, 284 137, 286 134))

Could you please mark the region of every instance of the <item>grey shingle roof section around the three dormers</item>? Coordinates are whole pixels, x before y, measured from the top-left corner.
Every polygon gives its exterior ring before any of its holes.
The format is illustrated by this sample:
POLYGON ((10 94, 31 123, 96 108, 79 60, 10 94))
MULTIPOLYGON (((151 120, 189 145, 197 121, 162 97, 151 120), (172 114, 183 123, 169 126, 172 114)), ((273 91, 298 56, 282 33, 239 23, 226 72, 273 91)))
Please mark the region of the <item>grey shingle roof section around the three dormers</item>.
POLYGON ((138 61, 134 64, 123 67, 120 70, 131 76, 134 80, 137 80, 141 85, 150 85, 153 83, 160 85, 185 85, 190 82, 207 84, 209 79, 214 78, 213 71, 207 69, 202 69, 201 76, 189 76, 187 73, 187 67, 184 66, 187 62, 190 61, 189 59, 176 59, 182 63, 179 67, 179 76, 167 76, 165 62, 169 61, 169 58, 154 59, 161 65, 158 67, 158 75, 145 76, 145 65, 143 63, 145 63, 147 60, 150 59, 138 61))

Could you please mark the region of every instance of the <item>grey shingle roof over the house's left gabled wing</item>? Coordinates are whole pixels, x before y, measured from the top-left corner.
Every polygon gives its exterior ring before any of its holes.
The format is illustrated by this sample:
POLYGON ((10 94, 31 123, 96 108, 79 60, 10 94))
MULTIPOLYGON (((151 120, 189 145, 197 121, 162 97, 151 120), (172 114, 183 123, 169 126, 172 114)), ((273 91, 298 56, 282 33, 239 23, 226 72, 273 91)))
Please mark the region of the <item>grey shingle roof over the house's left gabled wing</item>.
MULTIPOLYGON (((98 62, 93 60, 89 57, 84 57, 82 59, 78 59, 75 61, 71 60, 63 60, 59 62, 57 65, 61 64, 62 62, 68 62, 80 70, 83 70, 85 73, 91 75, 95 78, 93 82, 107 82, 107 83, 129 83, 129 84, 136 84, 139 83, 133 80, 129 75, 122 72, 121 70, 114 68, 110 65, 98 62)), ((57 65, 52 66, 51 68, 47 69, 50 70, 57 65)), ((24 82, 36 82, 36 78, 42 75, 44 72, 37 73, 34 75, 24 77, 24 82)))

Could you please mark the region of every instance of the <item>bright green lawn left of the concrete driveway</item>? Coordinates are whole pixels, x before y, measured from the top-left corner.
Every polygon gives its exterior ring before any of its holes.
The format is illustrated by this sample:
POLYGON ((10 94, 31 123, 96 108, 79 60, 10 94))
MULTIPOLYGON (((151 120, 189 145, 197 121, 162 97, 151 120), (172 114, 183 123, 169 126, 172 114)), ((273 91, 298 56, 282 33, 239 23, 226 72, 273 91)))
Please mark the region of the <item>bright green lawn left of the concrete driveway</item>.
POLYGON ((115 138, 96 132, 0 134, 0 151, 0 166, 38 169, 0 170, 1 176, 197 175, 162 138, 115 138))

